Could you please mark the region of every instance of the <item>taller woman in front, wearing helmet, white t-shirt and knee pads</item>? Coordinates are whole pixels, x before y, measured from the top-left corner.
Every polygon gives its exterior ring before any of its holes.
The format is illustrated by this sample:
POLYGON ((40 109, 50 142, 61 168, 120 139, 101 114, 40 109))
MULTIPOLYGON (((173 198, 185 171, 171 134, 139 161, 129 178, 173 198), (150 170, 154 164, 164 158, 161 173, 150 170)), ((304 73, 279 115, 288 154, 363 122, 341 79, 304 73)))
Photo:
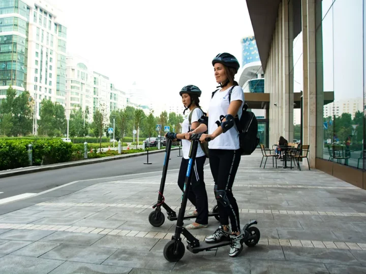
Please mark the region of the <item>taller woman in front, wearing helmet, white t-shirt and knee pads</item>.
MULTIPOLYGON (((212 60, 212 65, 214 65, 216 82, 221 88, 212 94, 208 108, 208 134, 202 134, 200 141, 203 143, 206 138, 211 139, 208 143, 209 163, 215 181, 214 192, 219 207, 220 226, 214 234, 206 237, 205 241, 218 243, 233 237, 229 256, 235 257, 242 249, 240 240, 248 236, 247 231, 240 230, 239 209, 232 194, 232 186, 240 163, 239 134, 234 117, 241 117, 244 93, 234 81, 239 62, 233 55, 220 53, 212 60), (225 119, 218 127, 216 121, 220 121, 221 115, 224 115, 225 119)), ((206 130, 207 126, 201 124, 192 133, 201 133, 206 130)))

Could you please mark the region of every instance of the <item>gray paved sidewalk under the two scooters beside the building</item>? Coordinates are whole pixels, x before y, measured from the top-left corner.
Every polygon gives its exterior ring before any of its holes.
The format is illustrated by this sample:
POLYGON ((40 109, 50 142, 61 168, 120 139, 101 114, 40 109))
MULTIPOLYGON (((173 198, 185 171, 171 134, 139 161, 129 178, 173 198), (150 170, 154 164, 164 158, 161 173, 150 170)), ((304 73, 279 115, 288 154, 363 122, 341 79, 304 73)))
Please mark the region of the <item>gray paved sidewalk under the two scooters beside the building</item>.
MULTIPOLYGON (((0 215, 0 273, 366 273, 366 191, 318 170, 259 168, 260 160, 242 157, 235 179, 241 225, 256 219, 261 232, 259 245, 237 258, 223 247, 164 259, 175 223, 148 222, 161 180, 155 173, 78 182, 59 189, 71 194, 33 197, 37 204, 0 215)), ((178 211, 176 179, 168 173, 164 196, 178 211)), ((205 182, 212 207, 208 166, 205 182)), ((217 227, 210 218, 193 234, 203 240, 217 227)))

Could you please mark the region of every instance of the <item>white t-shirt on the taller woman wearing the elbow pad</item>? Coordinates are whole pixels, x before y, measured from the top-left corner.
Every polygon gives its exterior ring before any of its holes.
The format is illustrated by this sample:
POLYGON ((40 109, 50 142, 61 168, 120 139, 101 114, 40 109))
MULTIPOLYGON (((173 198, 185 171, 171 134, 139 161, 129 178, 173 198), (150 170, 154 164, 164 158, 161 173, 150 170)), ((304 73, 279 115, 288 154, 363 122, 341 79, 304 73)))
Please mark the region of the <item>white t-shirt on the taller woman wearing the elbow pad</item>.
MULTIPOLYGON (((229 91, 231 88, 232 87, 229 87, 224 91, 221 91, 221 89, 219 89, 215 92, 214 97, 212 97, 208 108, 208 134, 214 133, 214 131, 218 128, 216 121, 220 121, 220 116, 227 115, 227 111, 229 109, 229 91)), ((240 118, 242 113, 242 107, 244 104, 244 92, 240 86, 234 86, 231 92, 230 99, 230 102, 236 100, 242 101, 238 111, 238 116, 240 118)), ((239 133, 236 130, 236 126, 233 126, 225 133, 221 133, 214 140, 209 142, 208 148, 230 150, 239 149, 239 133)))

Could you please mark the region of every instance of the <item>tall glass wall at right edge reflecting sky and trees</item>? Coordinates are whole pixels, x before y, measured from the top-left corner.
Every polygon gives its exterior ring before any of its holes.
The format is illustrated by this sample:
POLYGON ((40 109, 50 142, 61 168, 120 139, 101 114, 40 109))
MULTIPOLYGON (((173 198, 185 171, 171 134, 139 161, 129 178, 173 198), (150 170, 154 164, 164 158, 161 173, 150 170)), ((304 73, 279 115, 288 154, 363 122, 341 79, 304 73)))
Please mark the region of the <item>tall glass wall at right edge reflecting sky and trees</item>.
MULTIPOLYGON (((365 1, 316 1, 316 157, 358 169, 364 158, 365 1)), ((334 167, 333 167, 334 168, 334 167)))

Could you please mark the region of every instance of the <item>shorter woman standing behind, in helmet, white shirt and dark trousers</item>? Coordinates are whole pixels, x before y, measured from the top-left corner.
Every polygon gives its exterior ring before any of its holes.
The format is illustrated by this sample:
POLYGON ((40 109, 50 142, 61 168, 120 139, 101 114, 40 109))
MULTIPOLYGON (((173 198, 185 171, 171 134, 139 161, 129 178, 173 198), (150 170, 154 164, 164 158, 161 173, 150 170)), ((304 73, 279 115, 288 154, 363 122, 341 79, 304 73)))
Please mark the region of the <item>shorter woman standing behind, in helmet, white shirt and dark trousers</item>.
MULTIPOLYGON (((199 106, 199 97, 201 96, 201 90, 193 85, 185 86, 179 92, 182 98, 183 105, 186 110, 190 110, 190 114, 182 123, 182 132, 184 133, 173 133, 168 132, 165 136, 170 139, 181 139, 182 140, 182 151, 183 157, 180 163, 179 175, 178 175, 178 186, 184 191, 184 184, 186 179, 189 151, 191 147, 190 139, 185 139, 186 132, 196 129, 199 126, 198 119, 203 115, 202 110, 199 106)), ((191 181, 191 188, 188 195, 188 199, 196 207, 196 211, 189 213, 189 216, 196 216, 196 222, 187 225, 187 229, 198 229, 208 226, 208 200, 206 186, 203 181, 203 166, 206 161, 206 154, 203 152, 201 146, 198 146, 195 165, 193 167, 194 173, 191 181)))

